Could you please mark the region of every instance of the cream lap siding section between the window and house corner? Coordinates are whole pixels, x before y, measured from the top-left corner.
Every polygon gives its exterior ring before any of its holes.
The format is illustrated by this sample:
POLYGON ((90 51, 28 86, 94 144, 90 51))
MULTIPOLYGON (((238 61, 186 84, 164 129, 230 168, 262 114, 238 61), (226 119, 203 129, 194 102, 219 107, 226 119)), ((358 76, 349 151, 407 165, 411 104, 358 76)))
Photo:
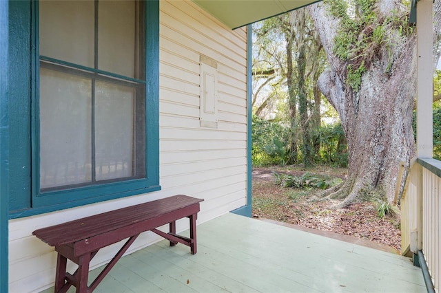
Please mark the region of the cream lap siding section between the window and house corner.
POLYGON ((163 191, 205 198, 201 203, 204 218, 214 217, 219 210, 225 213, 227 207, 243 206, 247 150, 245 30, 223 28, 188 1, 161 1, 160 34, 163 191), (200 127, 201 56, 217 63, 216 129, 200 127))

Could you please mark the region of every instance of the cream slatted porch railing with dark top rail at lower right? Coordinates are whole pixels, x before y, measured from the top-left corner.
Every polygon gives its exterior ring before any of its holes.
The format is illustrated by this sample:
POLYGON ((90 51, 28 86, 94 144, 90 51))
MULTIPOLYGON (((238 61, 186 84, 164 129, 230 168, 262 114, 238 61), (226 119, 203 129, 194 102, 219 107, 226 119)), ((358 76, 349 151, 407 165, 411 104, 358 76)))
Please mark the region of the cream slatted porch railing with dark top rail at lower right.
POLYGON ((435 292, 441 283, 441 162, 412 160, 401 204, 402 254, 424 255, 435 292))

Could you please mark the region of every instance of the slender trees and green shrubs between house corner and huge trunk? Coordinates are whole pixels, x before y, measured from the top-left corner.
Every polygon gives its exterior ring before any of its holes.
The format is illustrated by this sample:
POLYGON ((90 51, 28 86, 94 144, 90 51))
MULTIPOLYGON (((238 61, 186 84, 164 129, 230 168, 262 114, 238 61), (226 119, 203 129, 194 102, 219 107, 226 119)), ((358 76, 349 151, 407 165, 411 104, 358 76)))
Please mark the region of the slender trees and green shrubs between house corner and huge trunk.
POLYGON ((265 139, 253 135, 253 164, 314 165, 318 144, 311 133, 320 127, 325 100, 316 82, 327 58, 305 8, 255 23, 252 51, 254 69, 274 71, 271 76, 253 76, 254 113, 273 119, 269 128, 279 129, 259 131, 265 139))

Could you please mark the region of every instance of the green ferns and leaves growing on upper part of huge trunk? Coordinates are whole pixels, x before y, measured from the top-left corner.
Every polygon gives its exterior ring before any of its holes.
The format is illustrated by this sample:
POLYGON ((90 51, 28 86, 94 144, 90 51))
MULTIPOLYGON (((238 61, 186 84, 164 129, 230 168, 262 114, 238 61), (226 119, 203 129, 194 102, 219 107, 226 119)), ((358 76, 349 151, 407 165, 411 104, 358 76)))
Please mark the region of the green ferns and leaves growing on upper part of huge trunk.
POLYGON ((325 0, 331 15, 340 19, 340 30, 334 39, 334 54, 347 62, 346 84, 354 91, 361 86, 362 75, 369 69, 380 50, 389 52, 390 72, 393 58, 389 39, 390 30, 398 30, 400 36, 413 33, 407 14, 392 11, 386 17, 378 14, 376 0, 325 0))

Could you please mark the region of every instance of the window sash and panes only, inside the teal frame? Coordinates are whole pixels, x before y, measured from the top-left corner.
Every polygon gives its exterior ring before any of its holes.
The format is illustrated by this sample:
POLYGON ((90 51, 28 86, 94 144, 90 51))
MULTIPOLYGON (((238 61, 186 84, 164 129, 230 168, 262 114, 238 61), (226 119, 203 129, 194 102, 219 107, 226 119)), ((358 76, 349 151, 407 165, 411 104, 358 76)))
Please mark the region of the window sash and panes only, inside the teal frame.
POLYGON ((145 177, 141 11, 135 1, 40 2, 41 191, 145 177))

